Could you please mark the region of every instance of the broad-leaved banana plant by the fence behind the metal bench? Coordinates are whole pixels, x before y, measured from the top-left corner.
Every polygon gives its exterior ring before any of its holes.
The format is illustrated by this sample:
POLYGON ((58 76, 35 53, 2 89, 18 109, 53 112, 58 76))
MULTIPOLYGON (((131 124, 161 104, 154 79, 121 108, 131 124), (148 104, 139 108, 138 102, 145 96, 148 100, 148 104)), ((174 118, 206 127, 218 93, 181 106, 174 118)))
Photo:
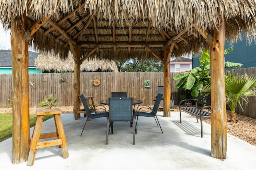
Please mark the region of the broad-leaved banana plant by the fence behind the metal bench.
MULTIPOLYGON (((226 49, 224 54, 228 54, 232 50, 232 48, 226 49)), ((196 98, 196 96, 198 96, 199 89, 210 84, 210 55, 208 52, 209 51, 207 49, 203 50, 200 58, 201 65, 199 67, 195 67, 190 71, 178 74, 173 78, 173 80, 179 80, 175 84, 175 87, 178 90, 186 90, 186 94, 183 94, 181 99, 186 98, 188 94, 191 94, 193 98, 196 98)), ((241 67, 242 65, 243 64, 240 63, 225 62, 225 68, 236 68, 241 67)))

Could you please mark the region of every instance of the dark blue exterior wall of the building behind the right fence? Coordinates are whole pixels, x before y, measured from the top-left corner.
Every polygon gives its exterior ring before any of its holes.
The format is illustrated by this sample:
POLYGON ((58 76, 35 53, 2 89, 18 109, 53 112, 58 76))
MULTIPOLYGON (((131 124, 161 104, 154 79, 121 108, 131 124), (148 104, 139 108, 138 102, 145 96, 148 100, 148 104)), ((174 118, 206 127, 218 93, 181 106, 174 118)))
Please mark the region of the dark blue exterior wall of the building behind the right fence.
MULTIPOLYGON (((251 45, 246 44, 246 41, 238 41, 231 45, 225 42, 225 49, 233 47, 233 51, 225 55, 225 62, 242 63, 240 68, 256 67, 256 44, 253 41, 251 45)), ((192 57, 192 68, 200 66, 198 56, 192 57)), ((230 69, 230 68, 225 68, 230 69)))

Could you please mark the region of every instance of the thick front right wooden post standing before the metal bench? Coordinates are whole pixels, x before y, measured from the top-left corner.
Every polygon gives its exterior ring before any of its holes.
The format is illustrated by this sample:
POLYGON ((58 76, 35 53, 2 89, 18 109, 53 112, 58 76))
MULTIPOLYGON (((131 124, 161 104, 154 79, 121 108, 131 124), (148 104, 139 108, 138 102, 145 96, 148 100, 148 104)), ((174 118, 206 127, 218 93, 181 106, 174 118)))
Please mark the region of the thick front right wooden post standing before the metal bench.
POLYGON ((214 29, 210 43, 211 61, 211 156, 218 159, 227 158, 227 115, 225 98, 224 45, 226 21, 222 20, 219 28, 214 29))

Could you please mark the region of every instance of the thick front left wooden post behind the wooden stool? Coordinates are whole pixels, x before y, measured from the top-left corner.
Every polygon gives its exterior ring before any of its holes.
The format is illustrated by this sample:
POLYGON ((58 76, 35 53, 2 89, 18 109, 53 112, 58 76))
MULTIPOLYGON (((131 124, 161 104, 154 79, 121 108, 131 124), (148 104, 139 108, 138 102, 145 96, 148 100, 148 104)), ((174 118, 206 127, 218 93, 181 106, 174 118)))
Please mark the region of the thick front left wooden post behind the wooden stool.
POLYGON ((12 163, 26 162, 29 152, 28 18, 12 18, 12 163))

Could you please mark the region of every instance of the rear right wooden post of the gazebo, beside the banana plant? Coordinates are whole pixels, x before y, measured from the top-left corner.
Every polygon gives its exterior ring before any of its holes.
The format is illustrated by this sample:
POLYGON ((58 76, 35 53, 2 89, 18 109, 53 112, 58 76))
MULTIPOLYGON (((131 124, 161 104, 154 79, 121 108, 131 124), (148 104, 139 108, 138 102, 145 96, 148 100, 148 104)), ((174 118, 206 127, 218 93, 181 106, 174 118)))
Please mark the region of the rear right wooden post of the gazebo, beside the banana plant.
POLYGON ((164 117, 170 117, 170 58, 168 58, 169 48, 164 48, 164 117))

